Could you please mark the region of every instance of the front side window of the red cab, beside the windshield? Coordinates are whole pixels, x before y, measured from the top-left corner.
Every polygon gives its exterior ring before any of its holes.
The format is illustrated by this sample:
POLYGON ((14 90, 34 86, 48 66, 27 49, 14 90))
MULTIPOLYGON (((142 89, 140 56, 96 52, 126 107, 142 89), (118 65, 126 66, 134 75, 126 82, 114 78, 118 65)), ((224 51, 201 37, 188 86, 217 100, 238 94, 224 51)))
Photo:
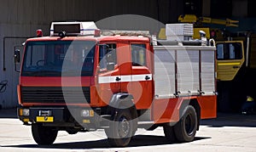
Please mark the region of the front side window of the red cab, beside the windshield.
POLYGON ((116 44, 100 45, 99 65, 101 70, 107 68, 107 61, 117 65, 116 44))

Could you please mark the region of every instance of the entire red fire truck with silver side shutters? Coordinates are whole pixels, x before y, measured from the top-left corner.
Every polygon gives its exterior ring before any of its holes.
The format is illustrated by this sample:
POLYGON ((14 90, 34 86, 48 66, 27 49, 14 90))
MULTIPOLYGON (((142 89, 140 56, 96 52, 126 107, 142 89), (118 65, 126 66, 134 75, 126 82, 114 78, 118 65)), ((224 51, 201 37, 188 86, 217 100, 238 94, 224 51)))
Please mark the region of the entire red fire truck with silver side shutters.
MULTIPOLYGON (((126 146, 137 128, 163 127, 189 142, 216 117, 215 50, 200 41, 157 41, 148 31, 102 31, 93 22, 53 22, 50 36, 26 40, 18 116, 38 144, 58 131, 104 129, 126 146)), ((211 42, 210 42, 211 44, 211 42)))

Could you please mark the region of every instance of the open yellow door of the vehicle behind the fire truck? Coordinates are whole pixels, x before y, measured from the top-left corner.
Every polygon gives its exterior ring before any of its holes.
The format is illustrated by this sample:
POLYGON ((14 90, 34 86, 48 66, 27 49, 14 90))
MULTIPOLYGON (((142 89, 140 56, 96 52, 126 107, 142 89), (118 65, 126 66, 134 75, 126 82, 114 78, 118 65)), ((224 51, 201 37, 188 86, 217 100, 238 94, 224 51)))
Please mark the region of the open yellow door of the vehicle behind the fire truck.
POLYGON ((244 62, 242 41, 217 42, 217 79, 231 81, 244 62))

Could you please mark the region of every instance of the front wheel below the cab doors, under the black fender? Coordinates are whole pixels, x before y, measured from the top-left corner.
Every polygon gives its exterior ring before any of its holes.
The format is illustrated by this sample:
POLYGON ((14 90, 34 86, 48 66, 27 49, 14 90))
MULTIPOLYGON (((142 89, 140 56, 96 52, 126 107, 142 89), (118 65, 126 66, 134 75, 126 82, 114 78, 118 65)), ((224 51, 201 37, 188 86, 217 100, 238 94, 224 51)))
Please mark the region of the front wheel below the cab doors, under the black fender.
POLYGON ((125 147, 134 133, 134 125, 129 110, 118 110, 110 121, 109 128, 105 129, 108 143, 113 147, 125 147))

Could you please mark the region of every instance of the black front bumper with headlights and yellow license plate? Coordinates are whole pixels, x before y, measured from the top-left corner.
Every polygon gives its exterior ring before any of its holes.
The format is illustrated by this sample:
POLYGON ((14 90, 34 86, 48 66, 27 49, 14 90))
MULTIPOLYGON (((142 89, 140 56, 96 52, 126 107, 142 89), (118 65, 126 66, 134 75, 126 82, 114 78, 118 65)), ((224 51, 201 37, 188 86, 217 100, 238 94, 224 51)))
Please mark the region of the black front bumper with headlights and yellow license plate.
POLYGON ((18 117, 25 125, 43 123, 51 127, 81 127, 87 130, 97 129, 106 123, 102 119, 102 109, 67 107, 31 107, 18 108, 18 117), (102 123, 103 122, 103 123, 102 123))

